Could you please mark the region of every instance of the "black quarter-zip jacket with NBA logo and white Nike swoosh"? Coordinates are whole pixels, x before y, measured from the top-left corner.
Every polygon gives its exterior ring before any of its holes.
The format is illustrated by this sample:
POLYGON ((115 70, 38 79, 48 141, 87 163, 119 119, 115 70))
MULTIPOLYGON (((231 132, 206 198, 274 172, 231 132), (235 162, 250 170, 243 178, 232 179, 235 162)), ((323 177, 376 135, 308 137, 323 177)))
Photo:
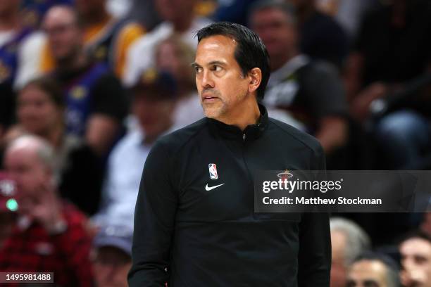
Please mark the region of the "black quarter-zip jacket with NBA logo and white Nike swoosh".
POLYGON ((255 213, 251 176, 324 170, 323 150, 259 108, 244 131, 204 118, 156 142, 135 209, 130 286, 329 286, 328 215, 255 213))

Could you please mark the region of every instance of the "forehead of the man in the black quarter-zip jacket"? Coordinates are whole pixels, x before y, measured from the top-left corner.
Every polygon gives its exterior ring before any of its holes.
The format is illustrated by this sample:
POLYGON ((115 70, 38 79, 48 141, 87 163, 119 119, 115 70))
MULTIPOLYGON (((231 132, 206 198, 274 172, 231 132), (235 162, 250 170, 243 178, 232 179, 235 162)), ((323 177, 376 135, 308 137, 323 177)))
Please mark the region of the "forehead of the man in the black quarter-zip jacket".
POLYGON ((201 39, 196 50, 196 63, 205 65, 214 60, 229 63, 235 60, 236 47, 237 42, 235 39, 223 35, 201 39))

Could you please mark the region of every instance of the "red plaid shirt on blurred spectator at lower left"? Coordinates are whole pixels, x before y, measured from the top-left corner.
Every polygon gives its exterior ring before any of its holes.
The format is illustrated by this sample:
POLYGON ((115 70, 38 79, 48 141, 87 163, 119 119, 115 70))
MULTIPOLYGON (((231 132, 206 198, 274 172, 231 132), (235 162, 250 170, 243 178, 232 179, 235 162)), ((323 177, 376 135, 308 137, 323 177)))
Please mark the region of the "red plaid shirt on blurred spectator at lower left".
POLYGON ((0 271, 54 272, 58 286, 92 286, 87 219, 68 203, 63 204, 63 216, 68 228, 62 234, 49 235, 37 222, 16 227, 0 251, 0 271))

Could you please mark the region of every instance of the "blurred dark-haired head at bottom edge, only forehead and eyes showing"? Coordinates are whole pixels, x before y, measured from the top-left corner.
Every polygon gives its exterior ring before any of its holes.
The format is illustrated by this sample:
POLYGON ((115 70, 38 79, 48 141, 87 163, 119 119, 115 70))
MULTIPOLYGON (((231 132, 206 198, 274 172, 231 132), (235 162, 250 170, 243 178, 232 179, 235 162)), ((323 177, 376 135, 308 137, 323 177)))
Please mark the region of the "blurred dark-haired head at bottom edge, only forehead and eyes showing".
POLYGON ((346 287, 401 287, 399 268, 390 257, 377 253, 360 255, 349 269, 346 287))

